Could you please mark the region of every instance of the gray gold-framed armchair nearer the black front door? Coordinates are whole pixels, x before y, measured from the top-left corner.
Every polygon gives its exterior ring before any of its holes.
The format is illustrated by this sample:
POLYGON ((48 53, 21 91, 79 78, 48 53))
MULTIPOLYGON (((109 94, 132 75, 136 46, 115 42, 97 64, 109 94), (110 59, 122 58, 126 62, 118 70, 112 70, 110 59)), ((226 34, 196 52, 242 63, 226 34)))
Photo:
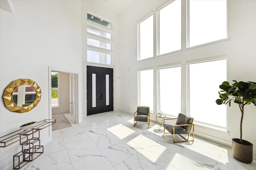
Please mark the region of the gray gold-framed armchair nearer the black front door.
POLYGON ((148 127, 150 124, 150 110, 148 106, 138 106, 137 111, 133 114, 133 126, 136 125, 137 122, 148 123, 148 127), (136 115, 135 115, 136 114, 136 115))

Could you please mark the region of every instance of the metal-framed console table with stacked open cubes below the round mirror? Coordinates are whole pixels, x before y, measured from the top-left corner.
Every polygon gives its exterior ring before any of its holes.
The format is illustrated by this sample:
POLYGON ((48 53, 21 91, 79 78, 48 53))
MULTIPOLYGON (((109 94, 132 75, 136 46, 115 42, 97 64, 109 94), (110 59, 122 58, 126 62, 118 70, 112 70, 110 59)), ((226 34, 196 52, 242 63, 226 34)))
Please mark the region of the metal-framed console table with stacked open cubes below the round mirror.
POLYGON ((0 137, 0 147, 8 147, 20 141, 22 150, 13 156, 13 169, 22 168, 44 152, 44 146, 40 144, 40 131, 55 122, 55 119, 45 119, 39 121, 32 129, 20 129, 0 137))

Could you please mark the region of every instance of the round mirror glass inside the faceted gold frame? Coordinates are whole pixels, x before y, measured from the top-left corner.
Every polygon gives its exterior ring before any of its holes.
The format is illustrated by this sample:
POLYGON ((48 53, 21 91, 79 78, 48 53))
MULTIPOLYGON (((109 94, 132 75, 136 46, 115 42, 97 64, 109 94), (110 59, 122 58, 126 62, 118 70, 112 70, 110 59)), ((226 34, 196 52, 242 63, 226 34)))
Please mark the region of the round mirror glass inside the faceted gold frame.
POLYGON ((20 85, 12 93, 13 102, 20 107, 32 104, 35 99, 36 90, 30 85, 20 85))

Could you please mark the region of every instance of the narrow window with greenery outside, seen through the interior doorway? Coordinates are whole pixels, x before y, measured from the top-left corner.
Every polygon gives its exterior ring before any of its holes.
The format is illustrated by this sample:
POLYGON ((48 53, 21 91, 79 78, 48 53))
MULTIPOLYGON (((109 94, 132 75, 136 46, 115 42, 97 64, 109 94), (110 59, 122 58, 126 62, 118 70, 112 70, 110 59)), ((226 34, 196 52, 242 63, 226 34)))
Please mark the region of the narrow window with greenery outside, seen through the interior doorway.
POLYGON ((59 79, 58 72, 52 71, 52 107, 59 106, 59 79))

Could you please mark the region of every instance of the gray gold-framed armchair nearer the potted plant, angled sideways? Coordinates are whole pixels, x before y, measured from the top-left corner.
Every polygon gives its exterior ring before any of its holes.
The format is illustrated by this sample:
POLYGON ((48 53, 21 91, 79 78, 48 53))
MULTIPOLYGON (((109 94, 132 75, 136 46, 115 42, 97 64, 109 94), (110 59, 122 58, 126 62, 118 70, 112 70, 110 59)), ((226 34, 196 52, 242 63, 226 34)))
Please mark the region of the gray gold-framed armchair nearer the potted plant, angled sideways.
POLYGON ((179 143, 179 142, 191 142, 194 141, 194 124, 193 124, 194 118, 184 115, 182 113, 179 113, 177 118, 167 118, 164 119, 164 134, 172 134, 173 135, 173 143, 179 143), (176 125, 171 125, 169 123, 166 123, 165 121, 168 119, 177 119, 176 125), (190 132, 193 127, 193 140, 189 140, 190 132), (167 130, 168 132, 165 132, 167 130), (185 141, 174 141, 175 135, 178 134, 180 137, 182 137, 185 141), (181 134, 188 134, 188 138, 186 139, 181 134))

